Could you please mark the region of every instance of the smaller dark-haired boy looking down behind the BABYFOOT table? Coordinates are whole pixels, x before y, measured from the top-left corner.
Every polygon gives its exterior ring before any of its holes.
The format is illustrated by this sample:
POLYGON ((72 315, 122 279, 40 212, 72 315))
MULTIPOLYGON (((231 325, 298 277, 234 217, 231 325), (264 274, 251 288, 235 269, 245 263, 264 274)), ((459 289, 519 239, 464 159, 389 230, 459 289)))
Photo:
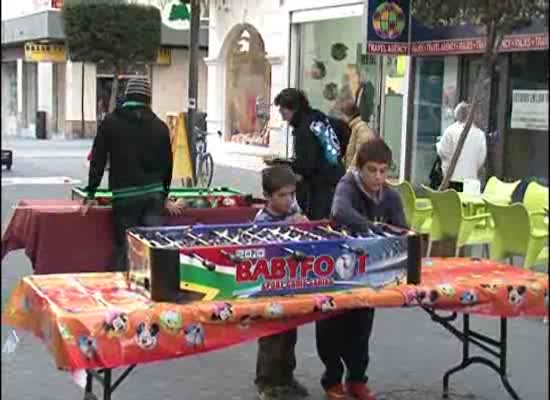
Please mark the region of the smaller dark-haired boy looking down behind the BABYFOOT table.
MULTIPOLYGON (((306 221, 296 203, 296 176, 283 165, 262 171, 262 188, 267 205, 256 222, 306 221)), ((256 387, 260 400, 290 400, 308 396, 307 389, 294 378, 296 369, 296 329, 263 337, 258 341, 256 387)))

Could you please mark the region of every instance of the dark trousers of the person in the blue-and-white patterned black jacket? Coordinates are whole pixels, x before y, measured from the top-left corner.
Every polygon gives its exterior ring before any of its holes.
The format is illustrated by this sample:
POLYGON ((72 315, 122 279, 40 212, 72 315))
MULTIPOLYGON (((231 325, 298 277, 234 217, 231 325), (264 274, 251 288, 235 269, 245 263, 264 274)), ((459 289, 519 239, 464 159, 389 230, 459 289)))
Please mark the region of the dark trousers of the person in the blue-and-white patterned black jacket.
POLYGON ((308 219, 330 218, 335 191, 335 185, 300 182, 296 188, 296 201, 308 219))

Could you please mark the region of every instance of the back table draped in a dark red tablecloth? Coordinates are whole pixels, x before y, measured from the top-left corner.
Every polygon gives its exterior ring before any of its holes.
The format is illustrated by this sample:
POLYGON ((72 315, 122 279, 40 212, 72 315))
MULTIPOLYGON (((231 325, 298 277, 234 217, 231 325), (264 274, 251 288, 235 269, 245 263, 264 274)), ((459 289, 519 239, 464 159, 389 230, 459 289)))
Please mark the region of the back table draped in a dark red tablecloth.
MULTIPOLYGON (((112 210, 80 212, 73 200, 21 200, 2 235, 2 259, 25 249, 36 274, 104 272, 112 262, 112 210)), ((231 224, 254 219, 258 207, 187 209, 167 225, 231 224)))

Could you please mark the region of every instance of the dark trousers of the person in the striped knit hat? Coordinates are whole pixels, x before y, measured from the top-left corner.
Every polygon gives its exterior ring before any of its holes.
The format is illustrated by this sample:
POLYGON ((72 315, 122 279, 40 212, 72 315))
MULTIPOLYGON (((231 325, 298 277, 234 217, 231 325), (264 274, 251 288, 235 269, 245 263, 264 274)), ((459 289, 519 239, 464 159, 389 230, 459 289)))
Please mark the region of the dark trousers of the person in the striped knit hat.
POLYGON ((126 230, 137 226, 162 226, 164 224, 165 200, 164 193, 147 193, 142 196, 113 200, 115 242, 112 271, 128 269, 126 230))

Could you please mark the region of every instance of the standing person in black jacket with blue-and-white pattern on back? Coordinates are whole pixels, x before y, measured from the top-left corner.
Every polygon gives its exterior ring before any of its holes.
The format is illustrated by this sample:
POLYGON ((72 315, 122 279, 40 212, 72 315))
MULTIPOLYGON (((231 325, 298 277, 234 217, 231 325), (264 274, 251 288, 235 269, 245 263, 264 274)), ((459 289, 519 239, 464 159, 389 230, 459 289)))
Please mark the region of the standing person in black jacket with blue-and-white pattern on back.
POLYGON ((296 199, 310 220, 328 218, 336 185, 344 174, 337 134, 325 114, 310 107, 305 94, 284 89, 275 98, 281 116, 293 128, 299 176, 296 199))

